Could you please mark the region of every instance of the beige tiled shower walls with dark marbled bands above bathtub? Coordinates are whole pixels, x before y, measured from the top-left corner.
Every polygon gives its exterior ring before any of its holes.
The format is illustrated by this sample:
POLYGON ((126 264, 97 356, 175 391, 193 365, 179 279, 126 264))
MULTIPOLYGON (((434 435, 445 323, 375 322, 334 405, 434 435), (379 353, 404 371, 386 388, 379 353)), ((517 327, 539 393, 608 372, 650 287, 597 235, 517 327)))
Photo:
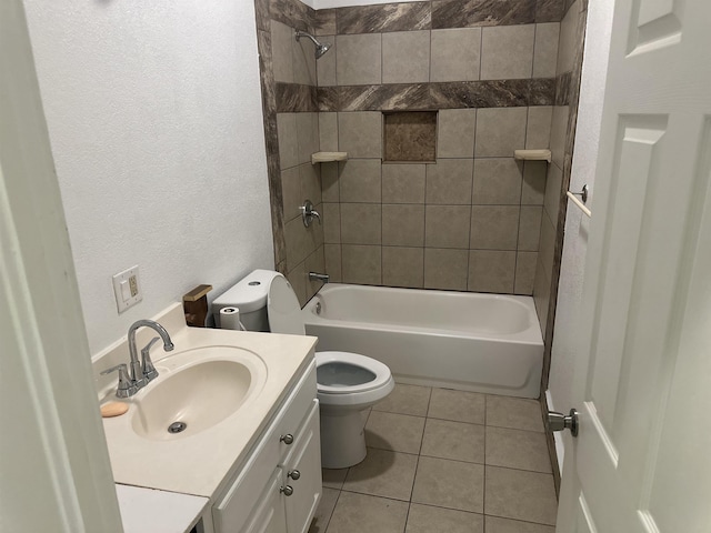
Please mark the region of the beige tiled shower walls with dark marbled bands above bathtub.
MULTIPOLYGON (((276 262, 299 298, 333 281, 531 294, 564 0, 313 11, 257 0, 276 262), (293 29, 332 49, 318 62, 293 29), (383 163, 382 111, 439 111, 437 160, 383 163), (349 152, 312 167, 312 151, 349 152), (318 182, 322 183, 322 192, 318 182), (323 225, 303 228, 309 198, 323 225)), ((550 215, 549 215, 550 218, 550 215)))

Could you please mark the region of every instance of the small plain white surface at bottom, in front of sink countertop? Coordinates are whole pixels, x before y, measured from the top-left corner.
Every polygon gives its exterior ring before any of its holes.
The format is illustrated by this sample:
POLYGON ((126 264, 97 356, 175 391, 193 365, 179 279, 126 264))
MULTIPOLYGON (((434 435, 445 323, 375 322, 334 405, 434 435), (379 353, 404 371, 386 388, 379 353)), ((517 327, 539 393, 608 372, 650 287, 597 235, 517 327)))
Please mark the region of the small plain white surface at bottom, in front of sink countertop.
POLYGON ((124 533, 186 533, 210 500, 140 486, 116 485, 124 533))

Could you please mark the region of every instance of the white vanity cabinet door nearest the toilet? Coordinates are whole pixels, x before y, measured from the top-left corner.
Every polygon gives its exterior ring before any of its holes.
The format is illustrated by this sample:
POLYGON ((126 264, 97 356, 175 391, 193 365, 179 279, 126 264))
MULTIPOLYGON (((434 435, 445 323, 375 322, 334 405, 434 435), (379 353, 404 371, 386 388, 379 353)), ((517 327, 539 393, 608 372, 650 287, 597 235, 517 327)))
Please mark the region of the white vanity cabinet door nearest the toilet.
POLYGON ((321 499, 321 435, 319 428, 319 401, 313 401, 309 415, 296 439, 297 447, 284 462, 284 485, 291 485, 293 493, 284 497, 287 507, 287 531, 304 533, 321 499), (294 480, 294 471, 299 479, 294 480))

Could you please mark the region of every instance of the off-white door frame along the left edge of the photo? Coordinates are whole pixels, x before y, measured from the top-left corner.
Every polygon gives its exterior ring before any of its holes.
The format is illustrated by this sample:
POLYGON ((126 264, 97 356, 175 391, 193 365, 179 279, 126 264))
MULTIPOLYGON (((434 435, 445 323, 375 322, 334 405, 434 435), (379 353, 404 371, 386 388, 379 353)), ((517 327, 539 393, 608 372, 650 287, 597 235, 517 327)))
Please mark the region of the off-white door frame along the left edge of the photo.
POLYGON ((0 2, 0 529, 119 532, 22 0, 0 2))

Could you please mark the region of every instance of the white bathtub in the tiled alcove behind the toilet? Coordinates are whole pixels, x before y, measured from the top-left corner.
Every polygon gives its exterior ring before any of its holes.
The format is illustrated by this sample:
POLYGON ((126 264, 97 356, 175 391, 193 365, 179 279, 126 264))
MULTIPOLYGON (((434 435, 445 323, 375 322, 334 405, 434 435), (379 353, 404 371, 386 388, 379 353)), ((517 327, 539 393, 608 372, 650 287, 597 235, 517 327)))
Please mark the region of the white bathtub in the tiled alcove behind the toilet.
POLYGON ((329 283, 301 312, 319 351, 377 359, 399 383, 539 396, 543 341, 530 296, 329 283))

